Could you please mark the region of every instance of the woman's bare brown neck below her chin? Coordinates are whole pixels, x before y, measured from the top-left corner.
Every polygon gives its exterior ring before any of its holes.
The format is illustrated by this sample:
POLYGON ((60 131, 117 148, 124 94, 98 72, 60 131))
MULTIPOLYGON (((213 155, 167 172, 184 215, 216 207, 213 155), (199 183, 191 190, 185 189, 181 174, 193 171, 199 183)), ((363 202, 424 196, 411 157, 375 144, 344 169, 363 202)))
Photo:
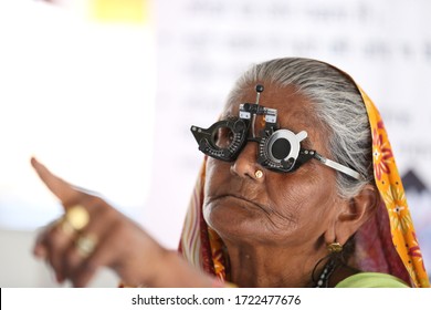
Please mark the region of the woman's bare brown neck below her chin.
MULTIPOLYGON (((240 287, 312 287, 313 269, 324 256, 312 250, 304 252, 304 249, 229 244, 227 246, 231 281, 240 287)), ((320 269, 316 270, 317 275, 320 269)))

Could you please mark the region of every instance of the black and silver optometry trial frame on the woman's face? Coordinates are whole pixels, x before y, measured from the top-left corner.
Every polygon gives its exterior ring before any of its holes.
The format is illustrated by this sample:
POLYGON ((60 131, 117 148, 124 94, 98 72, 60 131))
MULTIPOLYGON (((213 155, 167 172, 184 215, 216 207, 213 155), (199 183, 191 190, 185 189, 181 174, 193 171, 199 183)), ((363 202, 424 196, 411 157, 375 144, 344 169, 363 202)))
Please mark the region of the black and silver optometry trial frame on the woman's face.
POLYGON ((209 128, 191 126, 191 133, 198 142, 199 149, 216 159, 233 162, 248 142, 255 142, 257 163, 270 170, 290 173, 312 158, 322 164, 361 180, 356 170, 330 161, 314 149, 301 147, 301 142, 307 137, 306 131, 295 134, 277 126, 277 111, 259 104, 263 85, 256 85, 256 102, 240 104, 239 117, 216 122, 209 128), (265 127, 255 135, 256 115, 263 115, 265 127), (250 131, 251 130, 251 131, 250 131))

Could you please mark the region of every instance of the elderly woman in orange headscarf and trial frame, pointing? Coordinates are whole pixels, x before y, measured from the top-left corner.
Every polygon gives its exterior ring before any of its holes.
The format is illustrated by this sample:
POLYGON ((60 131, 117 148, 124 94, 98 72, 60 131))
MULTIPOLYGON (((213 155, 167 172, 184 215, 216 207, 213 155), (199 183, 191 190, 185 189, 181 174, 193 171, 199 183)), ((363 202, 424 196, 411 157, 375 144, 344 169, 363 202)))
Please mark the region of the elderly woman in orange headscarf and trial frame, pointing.
POLYGON ((181 255, 32 159, 65 208, 34 249, 59 281, 107 266, 127 286, 429 286, 382 121, 344 72, 254 65, 220 121, 191 131, 207 156, 181 255))

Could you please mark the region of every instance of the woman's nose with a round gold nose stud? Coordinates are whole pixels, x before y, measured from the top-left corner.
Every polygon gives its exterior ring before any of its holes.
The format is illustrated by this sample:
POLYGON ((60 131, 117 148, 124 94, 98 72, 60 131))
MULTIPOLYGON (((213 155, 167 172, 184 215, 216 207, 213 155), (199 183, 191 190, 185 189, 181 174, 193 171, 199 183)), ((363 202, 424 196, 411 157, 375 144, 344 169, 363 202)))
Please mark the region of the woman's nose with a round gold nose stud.
POLYGON ((263 168, 257 164, 257 144, 248 143, 231 165, 231 173, 244 178, 263 180, 263 168))

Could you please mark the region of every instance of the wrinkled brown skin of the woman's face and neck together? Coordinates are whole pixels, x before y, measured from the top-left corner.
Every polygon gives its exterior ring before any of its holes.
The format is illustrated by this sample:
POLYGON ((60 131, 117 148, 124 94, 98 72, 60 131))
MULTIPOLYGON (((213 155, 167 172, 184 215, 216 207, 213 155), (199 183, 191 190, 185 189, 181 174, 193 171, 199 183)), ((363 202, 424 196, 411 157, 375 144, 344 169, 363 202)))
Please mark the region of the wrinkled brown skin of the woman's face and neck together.
MULTIPOLYGON (((222 117, 238 116, 240 103, 254 101, 253 85, 222 117)), ((308 133, 303 147, 328 156, 326 133, 307 99, 292 87, 265 84, 260 103, 277 110, 281 128, 308 133)), ((255 132, 262 125, 257 118, 255 132)), ((347 203, 337 196, 335 170, 317 161, 276 173, 256 163, 256 152, 257 144, 249 142, 233 163, 208 159, 204 218, 228 247, 233 282, 307 287, 325 244, 336 239, 337 215, 347 203), (256 169, 264 172, 262 178, 254 176, 256 169)))

